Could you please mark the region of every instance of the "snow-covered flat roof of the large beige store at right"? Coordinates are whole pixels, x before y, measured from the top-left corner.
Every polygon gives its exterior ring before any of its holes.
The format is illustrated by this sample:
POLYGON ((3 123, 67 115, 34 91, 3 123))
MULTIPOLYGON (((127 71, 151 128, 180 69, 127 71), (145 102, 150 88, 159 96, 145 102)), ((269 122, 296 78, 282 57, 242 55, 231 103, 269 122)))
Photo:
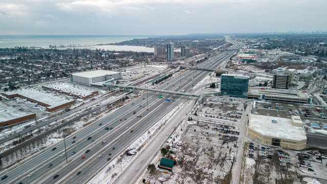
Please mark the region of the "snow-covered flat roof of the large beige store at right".
POLYGON ((280 139, 298 141, 307 139, 302 127, 293 126, 289 118, 250 114, 249 128, 265 136, 280 137, 280 139), (277 123, 272 123, 272 120, 276 120, 277 123))

